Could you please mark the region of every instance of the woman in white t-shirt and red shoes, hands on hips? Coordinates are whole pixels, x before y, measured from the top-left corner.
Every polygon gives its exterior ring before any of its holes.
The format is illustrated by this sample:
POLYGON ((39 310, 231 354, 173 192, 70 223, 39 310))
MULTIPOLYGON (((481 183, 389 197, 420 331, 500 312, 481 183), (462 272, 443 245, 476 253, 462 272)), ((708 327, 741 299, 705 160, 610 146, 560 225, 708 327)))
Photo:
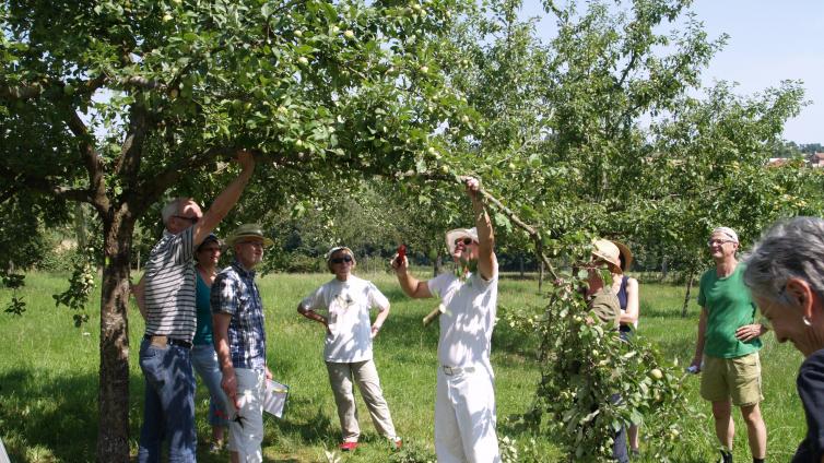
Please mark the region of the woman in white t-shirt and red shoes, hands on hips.
POLYGON ((372 340, 389 314, 389 300, 372 282, 352 275, 355 264, 351 249, 337 247, 329 250, 327 266, 334 278, 302 300, 297 311, 326 327, 323 359, 341 420, 343 442, 340 449, 354 450, 361 436, 353 380, 361 390, 378 432, 389 439, 393 448, 399 449, 401 439, 395 431, 372 358, 372 340), (369 320, 369 310, 373 308, 378 309, 375 323, 369 320))

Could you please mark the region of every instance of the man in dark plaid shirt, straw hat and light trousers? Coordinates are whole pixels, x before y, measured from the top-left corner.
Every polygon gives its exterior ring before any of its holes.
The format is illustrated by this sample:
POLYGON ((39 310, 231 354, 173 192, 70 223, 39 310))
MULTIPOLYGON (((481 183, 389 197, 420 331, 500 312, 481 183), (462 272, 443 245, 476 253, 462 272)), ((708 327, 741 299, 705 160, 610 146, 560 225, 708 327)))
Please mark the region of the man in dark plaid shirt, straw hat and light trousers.
POLYGON ((262 462, 263 394, 272 378, 266 365, 263 304, 255 266, 272 240, 259 225, 246 224, 226 239, 235 261, 212 284, 214 344, 223 373, 221 387, 235 405, 228 449, 233 462, 262 462))

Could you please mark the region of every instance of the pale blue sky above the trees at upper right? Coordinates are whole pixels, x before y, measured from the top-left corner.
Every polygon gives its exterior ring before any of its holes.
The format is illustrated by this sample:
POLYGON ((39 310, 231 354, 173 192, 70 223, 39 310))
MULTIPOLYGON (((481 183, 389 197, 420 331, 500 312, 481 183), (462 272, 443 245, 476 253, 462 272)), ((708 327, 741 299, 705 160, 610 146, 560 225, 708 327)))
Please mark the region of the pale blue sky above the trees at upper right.
MULTIPOLYGON (((730 36, 705 70, 705 85, 737 82, 737 93, 749 95, 801 80, 811 103, 787 122, 784 138, 824 144, 824 1, 696 0, 692 10, 710 38, 730 36)), ((522 12, 543 15, 540 0, 525 0, 522 12)), ((544 22, 539 32, 550 34, 548 27, 554 29, 544 22)))

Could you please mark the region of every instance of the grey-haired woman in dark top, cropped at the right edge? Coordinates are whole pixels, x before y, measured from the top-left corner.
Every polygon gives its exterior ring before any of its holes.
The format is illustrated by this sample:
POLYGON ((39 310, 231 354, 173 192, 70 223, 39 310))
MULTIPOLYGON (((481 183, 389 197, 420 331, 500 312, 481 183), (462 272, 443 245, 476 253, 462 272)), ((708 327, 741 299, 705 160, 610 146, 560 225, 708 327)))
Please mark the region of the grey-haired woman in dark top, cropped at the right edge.
POLYGON ((792 462, 824 462, 824 219, 774 225, 746 257, 744 283, 778 342, 805 357, 796 383, 807 437, 792 462))

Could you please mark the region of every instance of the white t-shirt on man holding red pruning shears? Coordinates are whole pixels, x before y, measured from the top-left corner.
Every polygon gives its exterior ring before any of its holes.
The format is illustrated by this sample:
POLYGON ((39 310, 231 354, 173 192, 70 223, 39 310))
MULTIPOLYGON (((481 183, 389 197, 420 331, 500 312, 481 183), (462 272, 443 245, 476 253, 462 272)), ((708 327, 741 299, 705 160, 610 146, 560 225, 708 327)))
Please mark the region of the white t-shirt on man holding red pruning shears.
POLYGON ((492 375, 490 351, 498 299, 497 274, 490 281, 472 273, 461 282, 451 273, 428 281, 429 293, 440 297, 438 360, 447 367, 484 367, 492 375))

